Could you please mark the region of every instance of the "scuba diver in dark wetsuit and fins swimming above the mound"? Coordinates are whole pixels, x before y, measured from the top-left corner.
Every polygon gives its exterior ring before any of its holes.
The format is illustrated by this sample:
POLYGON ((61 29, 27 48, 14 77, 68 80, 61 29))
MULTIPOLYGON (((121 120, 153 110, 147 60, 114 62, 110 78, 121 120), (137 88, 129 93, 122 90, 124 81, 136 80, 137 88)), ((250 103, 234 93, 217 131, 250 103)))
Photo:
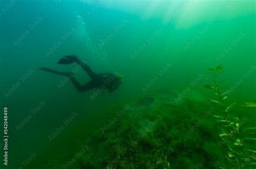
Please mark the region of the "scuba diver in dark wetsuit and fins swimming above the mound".
POLYGON ((73 83, 73 86, 79 91, 87 91, 93 88, 100 88, 102 91, 103 89, 108 89, 111 93, 112 91, 116 90, 120 83, 122 82, 122 76, 113 74, 113 73, 95 73, 91 70, 91 68, 86 65, 83 61, 78 59, 76 55, 68 55, 64 56, 64 58, 60 59, 57 64, 62 65, 68 65, 72 64, 73 62, 76 62, 78 65, 80 65, 84 71, 90 76, 91 81, 85 83, 84 85, 80 85, 80 83, 73 77, 75 75, 72 72, 59 72, 55 71, 50 68, 40 67, 38 69, 41 69, 42 71, 50 72, 53 74, 63 75, 70 78, 70 81, 73 83))

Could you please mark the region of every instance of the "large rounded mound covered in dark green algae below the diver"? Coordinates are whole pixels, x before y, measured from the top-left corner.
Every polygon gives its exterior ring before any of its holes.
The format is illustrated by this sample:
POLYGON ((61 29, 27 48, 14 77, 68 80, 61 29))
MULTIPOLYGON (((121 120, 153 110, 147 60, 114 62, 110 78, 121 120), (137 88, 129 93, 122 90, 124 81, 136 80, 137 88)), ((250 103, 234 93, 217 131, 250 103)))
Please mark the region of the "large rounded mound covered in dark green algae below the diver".
POLYGON ((76 140, 64 136, 47 152, 50 159, 35 163, 50 160, 42 168, 76 169, 213 168, 222 158, 213 111, 196 91, 158 91, 123 104, 91 133, 80 125, 70 131, 76 140))

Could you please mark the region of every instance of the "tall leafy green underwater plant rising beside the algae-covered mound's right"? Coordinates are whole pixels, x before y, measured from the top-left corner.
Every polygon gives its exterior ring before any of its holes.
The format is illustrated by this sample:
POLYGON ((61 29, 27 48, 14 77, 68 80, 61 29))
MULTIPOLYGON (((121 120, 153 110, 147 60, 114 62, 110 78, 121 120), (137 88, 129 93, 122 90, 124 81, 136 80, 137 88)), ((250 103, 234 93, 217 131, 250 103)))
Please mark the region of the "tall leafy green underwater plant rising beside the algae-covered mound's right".
MULTIPOLYGON (((242 128, 243 124, 247 121, 246 118, 240 119, 230 115, 230 111, 235 107, 237 103, 231 103, 226 105, 224 101, 230 95, 230 91, 223 92, 221 89, 221 83, 225 80, 218 80, 219 75, 224 73, 224 66, 221 64, 215 68, 208 68, 208 74, 212 75, 212 78, 207 80, 212 81, 212 85, 207 83, 205 88, 213 90, 218 99, 209 101, 219 107, 215 109, 216 121, 218 123, 219 133, 219 146, 224 149, 226 154, 223 163, 220 164, 220 168, 251 168, 255 167, 256 156, 255 150, 250 149, 251 145, 255 145, 255 131, 256 128, 242 128)), ((245 103, 243 107, 255 107, 254 103, 245 103)), ((251 146, 252 147, 252 146, 251 146)))

